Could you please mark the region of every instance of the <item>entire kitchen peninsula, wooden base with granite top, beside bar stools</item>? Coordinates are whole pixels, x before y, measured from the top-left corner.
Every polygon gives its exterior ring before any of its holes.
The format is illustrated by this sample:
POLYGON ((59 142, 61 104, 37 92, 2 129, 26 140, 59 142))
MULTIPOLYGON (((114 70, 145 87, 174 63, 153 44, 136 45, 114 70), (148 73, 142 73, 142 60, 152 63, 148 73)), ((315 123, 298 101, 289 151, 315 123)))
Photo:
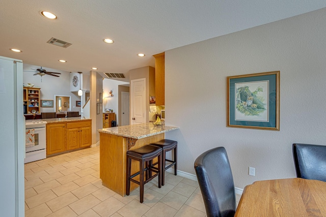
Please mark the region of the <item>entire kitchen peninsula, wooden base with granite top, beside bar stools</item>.
MULTIPOLYGON (((125 196, 127 151, 164 139, 166 132, 177 129, 179 127, 154 126, 149 122, 98 130, 102 184, 119 195, 125 196)), ((139 171, 139 162, 132 161, 131 168, 132 174, 139 171)), ((138 184, 130 183, 130 191, 137 187, 138 184)))

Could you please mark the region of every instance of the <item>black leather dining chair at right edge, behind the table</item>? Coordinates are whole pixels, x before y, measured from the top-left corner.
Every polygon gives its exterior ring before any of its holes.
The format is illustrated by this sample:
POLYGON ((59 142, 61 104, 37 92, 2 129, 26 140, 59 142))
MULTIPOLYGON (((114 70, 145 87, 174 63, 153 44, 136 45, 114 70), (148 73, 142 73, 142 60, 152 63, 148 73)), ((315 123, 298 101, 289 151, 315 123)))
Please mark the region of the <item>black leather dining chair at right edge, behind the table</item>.
POLYGON ((326 146, 294 143, 296 177, 326 181, 326 146))

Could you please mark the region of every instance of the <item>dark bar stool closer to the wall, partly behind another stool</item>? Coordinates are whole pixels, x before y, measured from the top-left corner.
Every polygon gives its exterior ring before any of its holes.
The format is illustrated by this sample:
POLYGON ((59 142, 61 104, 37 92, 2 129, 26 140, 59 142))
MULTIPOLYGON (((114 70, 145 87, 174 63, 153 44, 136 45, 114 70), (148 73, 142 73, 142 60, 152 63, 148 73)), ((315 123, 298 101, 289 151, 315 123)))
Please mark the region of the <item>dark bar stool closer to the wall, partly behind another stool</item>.
MULTIPOLYGON (((162 139, 158 142, 151 143, 157 147, 162 148, 162 185, 165 182, 165 171, 174 165, 174 175, 177 175, 177 147, 178 142, 170 139, 162 139), (166 159, 166 152, 174 149, 174 161, 166 159), (172 164, 166 166, 166 161, 171 162, 172 164)), ((155 164, 154 164, 155 165, 155 164)))

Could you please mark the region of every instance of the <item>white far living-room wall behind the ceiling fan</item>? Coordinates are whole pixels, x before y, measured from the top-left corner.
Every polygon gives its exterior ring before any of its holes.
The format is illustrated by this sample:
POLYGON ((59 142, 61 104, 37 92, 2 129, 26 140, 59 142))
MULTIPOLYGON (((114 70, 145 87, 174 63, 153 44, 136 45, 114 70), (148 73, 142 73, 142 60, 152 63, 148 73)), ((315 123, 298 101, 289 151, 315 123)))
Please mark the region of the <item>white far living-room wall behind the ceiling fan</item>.
MULTIPOLYGON (((80 101, 80 97, 78 97, 77 92, 70 92, 70 84, 72 83, 70 80, 70 72, 60 71, 56 69, 44 68, 48 72, 59 72, 60 77, 54 77, 50 75, 34 75, 35 72, 31 69, 39 69, 40 66, 33 66, 29 64, 23 63, 23 83, 27 85, 27 83, 34 84, 34 87, 41 88, 41 96, 40 100, 55 100, 55 95, 57 96, 71 96, 71 111, 79 111, 80 107, 76 107, 76 101, 80 101), (32 71, 32 72, 28 72, 32 71)), ((79 74, 78 79, 79 79, 79 74)), ((79 89, 79 86, 78 86, 79 89)), ((78 90, 77 89, 77 90, 78 90)), ((40 112, 54 112, 55 107, 44 108, 40 107, 40 112)))

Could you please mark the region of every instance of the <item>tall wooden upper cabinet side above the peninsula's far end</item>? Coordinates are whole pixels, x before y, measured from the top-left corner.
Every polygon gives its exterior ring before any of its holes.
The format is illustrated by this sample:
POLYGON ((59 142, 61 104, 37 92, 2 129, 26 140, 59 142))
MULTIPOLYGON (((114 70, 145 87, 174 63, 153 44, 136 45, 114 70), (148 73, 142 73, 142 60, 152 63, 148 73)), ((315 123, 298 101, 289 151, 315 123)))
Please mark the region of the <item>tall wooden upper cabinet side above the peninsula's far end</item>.
POLYGON ((155 105, 165 105, 165 52, 153 55, 155 58, 155 105))

